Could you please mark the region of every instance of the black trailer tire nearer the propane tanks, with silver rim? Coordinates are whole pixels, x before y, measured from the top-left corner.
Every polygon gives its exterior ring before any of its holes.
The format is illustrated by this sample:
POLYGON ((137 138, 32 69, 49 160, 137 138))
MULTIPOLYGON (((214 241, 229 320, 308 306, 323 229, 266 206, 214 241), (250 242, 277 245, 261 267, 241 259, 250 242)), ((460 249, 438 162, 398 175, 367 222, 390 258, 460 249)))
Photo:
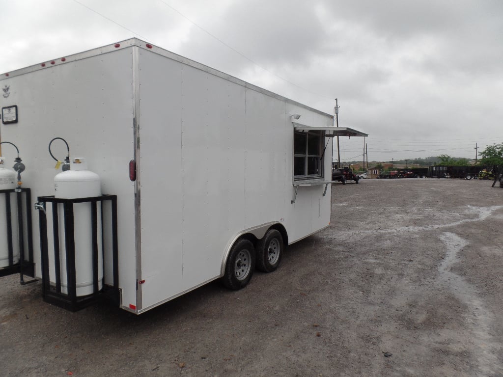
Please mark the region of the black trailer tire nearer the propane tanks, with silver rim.
POLYGON ((225 272, 221 278, 222 284, 233 291, 246 287, 255 270, 255 247, 246 239, 240 239, 232 245, 225 272))

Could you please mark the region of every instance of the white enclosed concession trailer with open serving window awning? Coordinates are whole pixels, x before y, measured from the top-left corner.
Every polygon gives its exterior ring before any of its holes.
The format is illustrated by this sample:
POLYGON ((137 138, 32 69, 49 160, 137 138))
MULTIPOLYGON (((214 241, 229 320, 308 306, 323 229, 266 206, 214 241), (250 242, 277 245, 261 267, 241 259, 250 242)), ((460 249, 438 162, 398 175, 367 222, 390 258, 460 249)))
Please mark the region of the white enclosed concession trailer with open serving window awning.
MULTIPOLYGON (((33 203, 54 195, 58 171, 47 147, 57 137, 70 159, 85 157, 99 174, 101 193, 116 196, 116 266, 103 204, 105 284, 115 267, 119 305, 136 314, 217 278, 239 289, 255 264, 274 270, 283 244, 329 225, 332 136, 366 136, 138 39, 5 73, 0 87, 0 135, 19 148, 33 203)), ((43 200, 51 259, 69 236, 53 231, 43 200)), ((35 274, 54 290, 64 258, 42 267, 45 220, 30 211, 35 274)))

